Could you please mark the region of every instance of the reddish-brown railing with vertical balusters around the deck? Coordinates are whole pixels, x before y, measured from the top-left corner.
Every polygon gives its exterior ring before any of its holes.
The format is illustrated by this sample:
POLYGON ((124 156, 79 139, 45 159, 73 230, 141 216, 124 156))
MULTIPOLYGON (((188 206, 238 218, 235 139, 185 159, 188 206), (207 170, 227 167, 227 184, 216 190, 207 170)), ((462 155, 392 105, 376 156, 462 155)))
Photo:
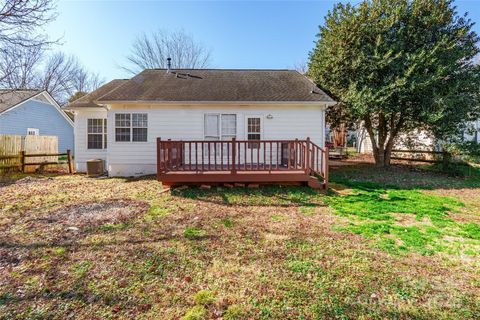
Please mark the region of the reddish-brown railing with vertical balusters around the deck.
POLYGON ((328 181, 328 149, 305 140, 191 140, 157 138, 157 171, 296 171, 328 181))

